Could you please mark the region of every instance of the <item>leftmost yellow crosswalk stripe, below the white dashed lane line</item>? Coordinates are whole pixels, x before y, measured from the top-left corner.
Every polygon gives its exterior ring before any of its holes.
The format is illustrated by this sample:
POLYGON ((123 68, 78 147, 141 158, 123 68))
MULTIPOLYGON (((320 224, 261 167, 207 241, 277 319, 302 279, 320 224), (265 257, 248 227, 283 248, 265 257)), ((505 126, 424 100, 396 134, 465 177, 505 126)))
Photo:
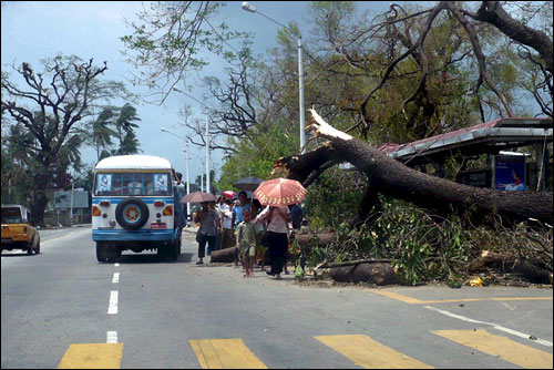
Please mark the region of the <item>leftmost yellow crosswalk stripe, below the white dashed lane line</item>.
POLYGON ((58 369, 120 369, 123 343, 71 345, 58 369))

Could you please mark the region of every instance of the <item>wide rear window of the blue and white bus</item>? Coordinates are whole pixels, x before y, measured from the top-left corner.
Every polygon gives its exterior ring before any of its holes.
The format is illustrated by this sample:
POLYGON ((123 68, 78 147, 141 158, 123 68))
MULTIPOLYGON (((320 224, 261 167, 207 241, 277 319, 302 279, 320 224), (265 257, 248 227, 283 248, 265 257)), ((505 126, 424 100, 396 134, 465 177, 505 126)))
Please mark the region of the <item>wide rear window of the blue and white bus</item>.
POLYGON ((168 173, 99 173, 94 195, 156 196, 172 195, 168 173))

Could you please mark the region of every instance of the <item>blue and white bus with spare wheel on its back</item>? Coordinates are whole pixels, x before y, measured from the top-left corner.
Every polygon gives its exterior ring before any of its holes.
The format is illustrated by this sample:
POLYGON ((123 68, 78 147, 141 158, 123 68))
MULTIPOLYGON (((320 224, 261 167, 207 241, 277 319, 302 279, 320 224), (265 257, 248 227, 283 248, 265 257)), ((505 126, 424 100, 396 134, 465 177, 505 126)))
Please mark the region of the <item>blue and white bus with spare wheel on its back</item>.
POLYGON ((175 182, 175 169, 158 156, 119 155, 96 164, 92 239, 99 261, 114 260, 123 250, 156 250, 158 256, 177 259, 175 182))

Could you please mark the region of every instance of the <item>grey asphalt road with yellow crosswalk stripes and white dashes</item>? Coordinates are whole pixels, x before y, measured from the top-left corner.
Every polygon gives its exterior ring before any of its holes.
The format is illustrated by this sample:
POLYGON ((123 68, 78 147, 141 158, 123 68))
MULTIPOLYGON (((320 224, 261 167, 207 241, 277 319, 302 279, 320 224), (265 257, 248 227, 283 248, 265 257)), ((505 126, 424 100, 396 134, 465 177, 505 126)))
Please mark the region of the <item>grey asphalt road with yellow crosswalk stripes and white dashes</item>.
POLYGON ((2 253, 2 369, 552 368, 552 289, 243 278, 196 266, 191 234, 175 263, 99 264, 90 227, 41 240, 2 253))

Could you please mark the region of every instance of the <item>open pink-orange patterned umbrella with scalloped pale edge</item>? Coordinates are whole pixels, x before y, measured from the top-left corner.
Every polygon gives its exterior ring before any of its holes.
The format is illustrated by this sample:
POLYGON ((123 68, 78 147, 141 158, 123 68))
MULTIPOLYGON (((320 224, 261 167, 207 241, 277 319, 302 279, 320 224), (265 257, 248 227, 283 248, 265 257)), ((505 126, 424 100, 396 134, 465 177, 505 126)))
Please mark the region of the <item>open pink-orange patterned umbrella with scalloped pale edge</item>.
POLYGON ((264 206, 284 207, 302 202, 308 193, 296 179, 275 178, 259 184, 254 195, 264 206))

